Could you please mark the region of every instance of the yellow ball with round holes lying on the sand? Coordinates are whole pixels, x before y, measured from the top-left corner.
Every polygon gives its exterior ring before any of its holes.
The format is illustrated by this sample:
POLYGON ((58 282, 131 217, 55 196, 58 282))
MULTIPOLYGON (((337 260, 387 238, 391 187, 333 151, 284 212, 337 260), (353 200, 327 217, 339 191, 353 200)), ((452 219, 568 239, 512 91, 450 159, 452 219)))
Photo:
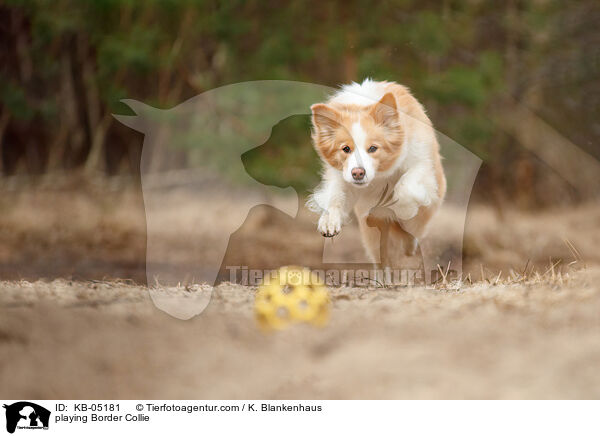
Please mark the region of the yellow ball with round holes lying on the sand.
POLYGON ((284 266, 258 288, 254 313, 267 330, 299 322, 324 326, 329 320, 329 303, 329 291, 316 274, 308 268, 284 266))

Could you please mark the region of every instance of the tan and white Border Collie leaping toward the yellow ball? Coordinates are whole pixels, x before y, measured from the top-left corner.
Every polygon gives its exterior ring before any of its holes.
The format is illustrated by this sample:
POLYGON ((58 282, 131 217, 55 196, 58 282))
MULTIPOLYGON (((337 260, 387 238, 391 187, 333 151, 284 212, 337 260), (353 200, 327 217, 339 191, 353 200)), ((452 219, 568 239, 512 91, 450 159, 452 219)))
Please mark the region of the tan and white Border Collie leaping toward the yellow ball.
POLYGON ((373 263, 379 258, 389 268, 402 251, 415 254, 446 193, 423 106, 405 86, 366 79, 342 86, 311 111, 323 174, 307 206, 321 214, 318 231, 334 237, 354 210, 373 263))

